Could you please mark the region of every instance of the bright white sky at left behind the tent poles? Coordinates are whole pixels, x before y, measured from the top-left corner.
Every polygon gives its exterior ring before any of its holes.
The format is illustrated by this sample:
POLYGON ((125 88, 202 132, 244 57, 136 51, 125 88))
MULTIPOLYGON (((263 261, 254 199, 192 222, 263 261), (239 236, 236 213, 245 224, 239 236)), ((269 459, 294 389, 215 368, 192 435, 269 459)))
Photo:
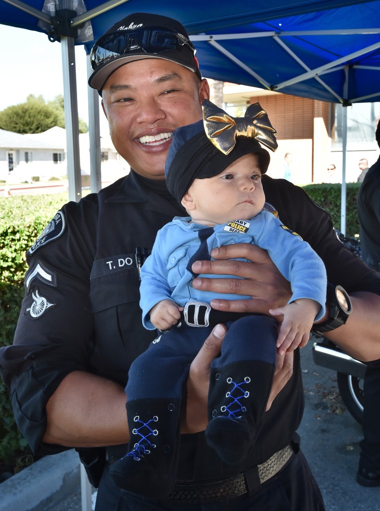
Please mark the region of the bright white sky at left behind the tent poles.
MULTIPOLYGON (((63 95, 61 44, 50 42, 47 34, 0 25, 0 55, 0 111, 24 103, 30 94, 42 95, 45 101, 63 95)), ((75 63, 79 117, 88 123, 87 64, 83 45, 75 47, 75 63)))

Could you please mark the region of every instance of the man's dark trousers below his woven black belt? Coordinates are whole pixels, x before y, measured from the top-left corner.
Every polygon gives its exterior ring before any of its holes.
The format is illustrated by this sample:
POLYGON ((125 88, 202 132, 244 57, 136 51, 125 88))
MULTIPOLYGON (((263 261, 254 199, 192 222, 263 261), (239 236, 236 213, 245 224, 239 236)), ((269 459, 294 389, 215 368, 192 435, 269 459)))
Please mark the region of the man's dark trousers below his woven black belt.
POLYGON ((106 466, 95 511, 325 511, 322 495, 309 465, 299 451, 253 496, 214 504, 172 505, 148 500, 118 489, 106 466))

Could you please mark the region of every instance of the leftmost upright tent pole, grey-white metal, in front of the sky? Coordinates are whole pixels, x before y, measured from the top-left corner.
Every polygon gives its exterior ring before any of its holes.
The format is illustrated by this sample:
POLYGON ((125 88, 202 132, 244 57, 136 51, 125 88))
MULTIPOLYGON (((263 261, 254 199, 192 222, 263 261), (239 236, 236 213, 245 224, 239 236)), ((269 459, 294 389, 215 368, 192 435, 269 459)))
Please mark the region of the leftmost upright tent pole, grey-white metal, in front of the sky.
POLYGON ((81 161, 79 156, 79 126, 77 78, 75 74, 74 38, 61 37, 63 96, 65 100, 65 128, 67 142, 67 179, 69 200, 82 197, 81 161))

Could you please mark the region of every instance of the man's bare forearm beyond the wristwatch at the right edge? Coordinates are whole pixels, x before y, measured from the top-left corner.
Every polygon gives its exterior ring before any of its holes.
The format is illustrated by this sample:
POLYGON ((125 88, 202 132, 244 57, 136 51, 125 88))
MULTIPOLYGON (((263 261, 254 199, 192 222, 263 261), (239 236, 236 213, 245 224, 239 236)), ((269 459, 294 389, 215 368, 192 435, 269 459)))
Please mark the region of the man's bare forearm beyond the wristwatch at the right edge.
POLYGON ((352 313, 347 323, 325 336, 358 360, 380 359, 380 296, 358 291, 350 298, 352 313))

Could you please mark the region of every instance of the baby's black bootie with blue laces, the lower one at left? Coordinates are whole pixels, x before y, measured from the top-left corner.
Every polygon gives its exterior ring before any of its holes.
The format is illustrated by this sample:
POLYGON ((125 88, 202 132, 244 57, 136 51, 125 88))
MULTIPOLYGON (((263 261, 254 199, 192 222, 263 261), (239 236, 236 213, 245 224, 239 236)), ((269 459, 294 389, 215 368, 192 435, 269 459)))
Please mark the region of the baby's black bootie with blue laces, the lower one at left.
POLYGON ((139 399, 127 402, 130 443, 128 453, 110 468, 123 490, 151 498, 165 498, 174 488, 180 436, 180 402, 139 399))

